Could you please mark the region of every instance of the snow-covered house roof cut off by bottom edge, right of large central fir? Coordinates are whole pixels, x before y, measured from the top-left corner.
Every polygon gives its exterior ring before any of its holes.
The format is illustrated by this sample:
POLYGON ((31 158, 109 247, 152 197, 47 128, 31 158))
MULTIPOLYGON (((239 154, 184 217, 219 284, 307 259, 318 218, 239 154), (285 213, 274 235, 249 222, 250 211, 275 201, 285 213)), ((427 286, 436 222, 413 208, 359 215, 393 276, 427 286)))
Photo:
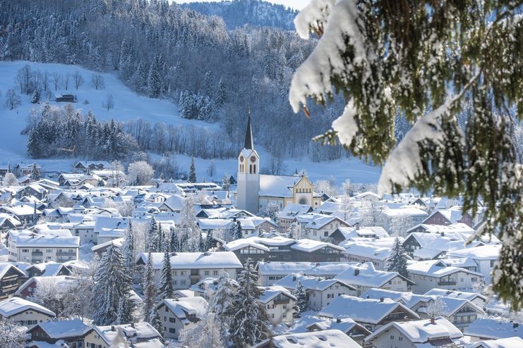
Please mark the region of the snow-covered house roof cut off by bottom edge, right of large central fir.
POLYGON ((293 333, 267 338, 253 348, 361 348, 351 337, 340 330, 313 331, 310 333, 293 333))

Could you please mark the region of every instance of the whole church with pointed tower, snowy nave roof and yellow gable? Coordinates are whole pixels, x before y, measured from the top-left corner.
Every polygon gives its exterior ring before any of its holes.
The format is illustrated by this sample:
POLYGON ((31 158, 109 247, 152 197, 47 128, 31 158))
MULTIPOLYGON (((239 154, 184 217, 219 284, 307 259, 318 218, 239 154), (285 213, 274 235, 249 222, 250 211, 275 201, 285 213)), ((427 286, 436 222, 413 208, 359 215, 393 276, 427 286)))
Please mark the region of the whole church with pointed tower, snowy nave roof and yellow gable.
POLYGON ((288 204, 306 204, 318 208, 321 197, 314 192, 312 182, 305 175, 260 174, 260 156, 254 149, 249 113, 244 149, 238 156, 236 207, 257 214, 269 203, 277 204, 279 210, 288 204))

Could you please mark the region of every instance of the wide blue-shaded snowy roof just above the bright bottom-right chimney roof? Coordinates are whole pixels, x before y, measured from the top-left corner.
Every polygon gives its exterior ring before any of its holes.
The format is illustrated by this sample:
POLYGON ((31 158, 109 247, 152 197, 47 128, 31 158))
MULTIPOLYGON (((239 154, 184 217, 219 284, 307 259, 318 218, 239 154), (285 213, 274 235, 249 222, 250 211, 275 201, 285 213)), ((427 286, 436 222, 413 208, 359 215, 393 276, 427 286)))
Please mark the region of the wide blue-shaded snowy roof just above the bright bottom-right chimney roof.
POLYGON ((327 318, 352 318, 359 323, 378 324, 393 311, 402 310, 411 318, 418 319, 414 313, 399 302, 392 299, 361 299, 342 294, 320 311, 320 316, 327 318))

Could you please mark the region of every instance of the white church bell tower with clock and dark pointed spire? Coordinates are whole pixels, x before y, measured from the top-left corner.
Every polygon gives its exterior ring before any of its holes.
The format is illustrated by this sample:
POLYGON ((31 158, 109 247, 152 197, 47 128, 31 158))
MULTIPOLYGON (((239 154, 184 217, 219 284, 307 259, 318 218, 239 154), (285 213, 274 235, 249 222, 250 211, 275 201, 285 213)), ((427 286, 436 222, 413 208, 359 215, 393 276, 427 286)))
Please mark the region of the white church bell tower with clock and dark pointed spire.
POLYGON ((253 214, 260 210, 260 156, 254 149, 251 111, 248 113, 244 149, 238 156, 238 185, 236 187, 236 205, 253 214))

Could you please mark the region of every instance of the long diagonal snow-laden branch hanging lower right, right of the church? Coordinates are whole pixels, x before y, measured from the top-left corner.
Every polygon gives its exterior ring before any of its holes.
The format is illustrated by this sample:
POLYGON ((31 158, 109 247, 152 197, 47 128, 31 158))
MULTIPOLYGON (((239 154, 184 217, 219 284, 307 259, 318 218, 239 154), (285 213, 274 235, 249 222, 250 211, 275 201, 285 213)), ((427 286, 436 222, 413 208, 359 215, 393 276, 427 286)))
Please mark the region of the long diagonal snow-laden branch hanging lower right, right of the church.
POLYGON ((402 141, 389 155, 385 166, 383 166, 380 181, 378 182, 378 194, 380 196, 392 192, 395 184, 409 187, 416 176, 422 174, 420 143, 426 140, 431 140, 435 144, 442 142, 444 137, 444 133, 440 128, 442 116, 444 117, 445 113, 449 112, 452 104, 463 96, 464 92, 469 89, 479 75, 479 73, 476 73, 461 92, 447 99, 441 106, 416 121, 411 130, 407 132, 402 141))

